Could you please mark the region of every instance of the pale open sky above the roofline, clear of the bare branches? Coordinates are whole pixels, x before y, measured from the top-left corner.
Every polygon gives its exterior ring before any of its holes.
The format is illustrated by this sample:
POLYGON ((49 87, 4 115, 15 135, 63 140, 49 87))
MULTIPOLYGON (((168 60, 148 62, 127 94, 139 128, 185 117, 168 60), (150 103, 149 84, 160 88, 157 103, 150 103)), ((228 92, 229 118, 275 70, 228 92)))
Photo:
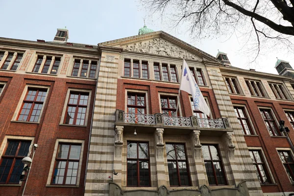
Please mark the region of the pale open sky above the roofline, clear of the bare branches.
POLYGON ((163 30, 213 56, 218 49, 226 52, 233 66, 243 69, 277 73, 276 57, 294 66, 294 54, 286 51, 263 52, 250 64, 240 52, 239 40, 232 36, 195 41, 183 29, 174 31, 161 20, 146 17, 137 0, 0 0, 0 37, 52 41, 56 28, 67 27, 69 42, 97 45, 98 43, 138 34, 146 25, 154 31, 163 30), (155 22, 154 22, 155 21, 155 22))

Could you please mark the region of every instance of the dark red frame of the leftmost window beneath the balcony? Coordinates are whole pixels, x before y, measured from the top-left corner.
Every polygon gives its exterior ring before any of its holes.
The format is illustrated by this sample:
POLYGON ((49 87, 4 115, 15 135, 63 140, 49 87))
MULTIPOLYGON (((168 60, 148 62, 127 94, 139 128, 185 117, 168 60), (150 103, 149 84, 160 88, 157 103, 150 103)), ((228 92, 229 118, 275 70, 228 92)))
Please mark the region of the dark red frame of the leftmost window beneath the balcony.
MULTIPOLYGON (((126 155, 126 187, 151 187, 151 170, 150 170, 150 145, 149 145, 149 141, 132 141, 132 140, 127 140, 126 144, 128 143, 136 143, 137 144, 137 158, 127 158, 126 155), (141 144, 147 144, 148 146, 148 159, 143 159, 143 158, 139 158, 139 143, 141 144), (131 161, 137 161, 137 180, 138 180, 138 186, 128 186, 127 185, 127 161, 131 160, 131 161), (139 169, 139 164, 140 160, 143 161, 148 161, 148 173, 149 173, 149 186, 140 186, 140 169, 139 169)), ((126 147, 126 154, 127 154, 127 147, 126 147)))

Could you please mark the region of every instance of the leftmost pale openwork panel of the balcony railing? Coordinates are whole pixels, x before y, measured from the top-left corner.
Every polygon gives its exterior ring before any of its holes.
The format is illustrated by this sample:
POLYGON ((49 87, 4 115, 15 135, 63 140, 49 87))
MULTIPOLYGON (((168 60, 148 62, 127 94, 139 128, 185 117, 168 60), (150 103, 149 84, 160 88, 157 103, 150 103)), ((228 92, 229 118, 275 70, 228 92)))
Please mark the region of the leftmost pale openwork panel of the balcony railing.
POLYGON ((149 114, 130 114, 124 113, 124 123, 153 124, 155 125, 155 116, 149 114))

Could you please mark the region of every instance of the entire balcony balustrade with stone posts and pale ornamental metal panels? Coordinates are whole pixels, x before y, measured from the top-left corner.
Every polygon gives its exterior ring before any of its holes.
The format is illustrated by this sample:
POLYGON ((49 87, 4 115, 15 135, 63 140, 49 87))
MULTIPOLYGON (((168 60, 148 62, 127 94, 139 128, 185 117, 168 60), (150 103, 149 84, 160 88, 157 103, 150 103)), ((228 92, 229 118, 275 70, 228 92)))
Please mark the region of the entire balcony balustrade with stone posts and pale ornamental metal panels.
POLYGON ((161 127, 172 129, 190 130, 217 130, 233 131, 228 118, 221 119, 200 119, 191 117, 170 117, 160 113, 150 114, 130 114, 123 110, 116 110, 116 125, 161 127))

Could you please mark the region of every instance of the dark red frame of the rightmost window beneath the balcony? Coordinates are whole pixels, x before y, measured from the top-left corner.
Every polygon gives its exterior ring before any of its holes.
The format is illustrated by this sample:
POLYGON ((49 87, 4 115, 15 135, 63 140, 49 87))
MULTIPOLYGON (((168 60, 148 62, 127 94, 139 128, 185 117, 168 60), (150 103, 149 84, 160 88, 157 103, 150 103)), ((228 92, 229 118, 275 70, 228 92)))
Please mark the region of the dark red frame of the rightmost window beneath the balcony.
MULTIPOLYGON (((211 159, 211 160, 209 160, 209 159, 204 159, 202 148, 201 148, 201 151, 202 151, 202 153, 201 153, 201 157, 203 158, 202 160, 203 160, 204 165, 205 165, 205 161, 206 161, 206 162, 211 162, 211 163, 212 163, 212 166, 214 166, 214 165, 213 165, 214 161, 215 161, 215 162, 220 162, 220 166, 221 166, 221 170, 222 170, 222 175, 223 175, 223 178, 224 178, 224 181, 225 181, 225 184, 219 184, 219 183, 218 183, 218 179, 217 179, 217 176, 216 176, 215 169, 214 169, 214 167, 212 167, 212 168, 213 168, 213 172, 214 172, 215 181, 216 181, 217 184, 216 184, 216 185, 212 185, 212 184, 209 184, 209 181, 208 181, 209 186, 224 186, 224 185, 227 185, 227 184, 228 184, 228 180, 227 180, 226 172, 224 171, 224 165, 223 165, 223 161, 222 161, 222 156, 221 156, 221 151, 220 151, 220 147, 219 147, 219 145, 218 145, 218 144, 201 144, 201 145, 202 145, 202 147, 203 147, 203 146, 208 146, 210 157, 212 157, 212 154, 211 154, 211 150, 210 150, 210 147, 209 147, 209 146, 214 146, 214 147, 216 147, 216 149, 217 149, 217 153, 218 153, 218 155, 220 156, 220 157, 219 157, 219 158, 220 158, 219 160, 214 160, 214 159, 211 159)), ((205 169, 205 172, 206 172, 206 168, 205 168, 205 166, 204 166, 204 169, 205 169)), ((206 176, 207 176, 207 172, 206 172, 206 176)), ((207 176, 207 180, 208 180, 208 176, 207 176)))

